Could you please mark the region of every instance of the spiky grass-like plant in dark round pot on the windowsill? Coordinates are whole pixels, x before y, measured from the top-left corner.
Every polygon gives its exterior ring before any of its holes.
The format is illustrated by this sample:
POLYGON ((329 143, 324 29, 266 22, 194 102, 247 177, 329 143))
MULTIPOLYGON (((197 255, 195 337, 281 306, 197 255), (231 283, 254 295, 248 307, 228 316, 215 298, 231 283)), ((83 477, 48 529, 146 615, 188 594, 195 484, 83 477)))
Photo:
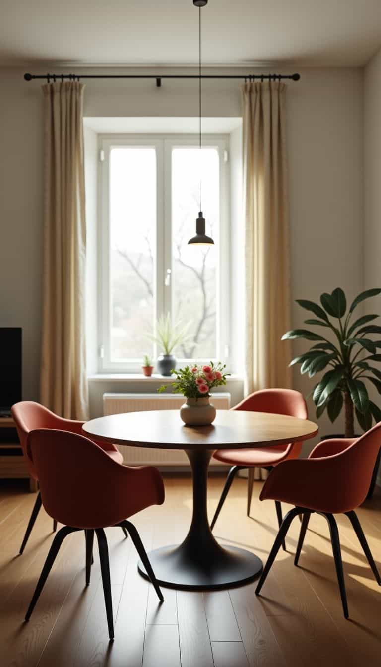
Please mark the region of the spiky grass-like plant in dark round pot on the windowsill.
POLYGON ((188 324, 180 321, 173 323, 170 313, 160 315, 157 318, 155 333, 149 334, 148 338, 157 343, 163 353, 157 358, 157 369, 163 376, 170 376, 171 370, 176 366, 176 359, 172 352, 185 343, 189 336, 187 334, 188 324))

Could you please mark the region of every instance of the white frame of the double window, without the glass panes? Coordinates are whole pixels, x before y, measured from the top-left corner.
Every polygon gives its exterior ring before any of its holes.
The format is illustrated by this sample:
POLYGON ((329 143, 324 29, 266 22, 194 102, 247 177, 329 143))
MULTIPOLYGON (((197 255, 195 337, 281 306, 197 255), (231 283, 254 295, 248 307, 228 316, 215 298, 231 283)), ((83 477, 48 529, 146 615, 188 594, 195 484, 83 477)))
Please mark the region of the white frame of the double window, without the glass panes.
MULTIPOLYGON (((98 135, 99 178, 97 272, 98 283, 98 340, 99 373, 140 373, 141 360, 112 362, 109 342, 109 154, 120 146, 151 147, 156 151, 157 227, 156 253, 154 258, 155 317, 161 312, 171 311, 171 287, 165 286, 165 275, 171 266, 171 151, 173 148, 198 145, 196 134, 123 134, 98 135), (108 287, 108 289, 107 289, 108 287)), ((229 365, 230 340, 230 173, 228 164, 229 135, 203 135, 203 146, 217 148, 220 157, 220 231, 218 237, 218 267, 216 303, 216 360, 229 365)), ((208 223, 208 212, 204 211, 208 223)), ((195 209, 195 229, 198 211, 195 209)), ((159 351, 154 346, 154 358, 159 351)), ((210 362, 210 359, 197 359, 210 362)), ((177 368, 191 360, 177 358, 177 368)), ((228 369, 229 370, 229 369, 228 369)))

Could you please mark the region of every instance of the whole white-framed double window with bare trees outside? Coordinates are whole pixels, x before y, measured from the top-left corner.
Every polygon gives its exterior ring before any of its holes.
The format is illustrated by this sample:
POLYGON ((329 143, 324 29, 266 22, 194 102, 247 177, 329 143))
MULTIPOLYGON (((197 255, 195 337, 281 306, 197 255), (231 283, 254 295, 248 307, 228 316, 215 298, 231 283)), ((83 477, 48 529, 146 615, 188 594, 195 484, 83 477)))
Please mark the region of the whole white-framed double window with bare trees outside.
POLYGON ((228 356, 226 137, 100 137, 101 371, 137 372, 155 320, 187 323, 181 361, 228 356), (201 185, 200 185, 201 174, 201 185), (202 210, 212 247, 192 247, 202 210))

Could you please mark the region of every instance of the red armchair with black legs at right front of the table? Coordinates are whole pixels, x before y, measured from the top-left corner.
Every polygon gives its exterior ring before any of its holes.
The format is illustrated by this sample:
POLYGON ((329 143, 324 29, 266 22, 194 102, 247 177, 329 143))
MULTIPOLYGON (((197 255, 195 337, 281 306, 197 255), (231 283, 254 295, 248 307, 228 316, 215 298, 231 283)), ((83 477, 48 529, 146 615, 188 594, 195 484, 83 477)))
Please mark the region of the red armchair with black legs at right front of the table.
POLYGON ((374 463, 381 446, 381 422, 376 424, 361 438, 346 440, 334 438, 324 440, 312 450, 308 459, 284 461, 271 472, 264 484, 260 500, 288 502, 296 507, 286 514, 274 546, 264 567, 256 589, 257 595, 268 576, 268 572, 278 553, 280 544, 295 516, 302 515, 302 526, 295 554, 298 565, 308 521, 313 512, 322 514, 328 521, 336 574, 345 618, 348 618, 348 604, 344 582, 344 571, 340 551, 338 526, 334 514, 348 516, 360 545, 364 551, 376 582, 380 585, 380 574, 374 563, 360 522, 354 512, 368 494, 374 463))

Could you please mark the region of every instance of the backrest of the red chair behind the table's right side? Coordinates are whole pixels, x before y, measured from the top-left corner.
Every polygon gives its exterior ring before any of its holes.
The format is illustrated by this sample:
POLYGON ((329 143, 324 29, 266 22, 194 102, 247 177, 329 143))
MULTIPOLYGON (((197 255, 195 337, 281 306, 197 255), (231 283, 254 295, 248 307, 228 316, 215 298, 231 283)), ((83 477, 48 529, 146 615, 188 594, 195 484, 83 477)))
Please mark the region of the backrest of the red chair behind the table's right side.
MULTIPOLYGON (((288 415, 299 419, 308 418, 307 404, 304 396, 294 389, 262 389, 246 396, 244 400, 234 406, 232 410, 246 410, 248 412, 271 412, 288 415)), ((302 442, 295 442, 292 448, 292 457, 296 458, 302 449, 302 442)), ((286 450, 288 445, 272 446, 272 449, 286 450)))

